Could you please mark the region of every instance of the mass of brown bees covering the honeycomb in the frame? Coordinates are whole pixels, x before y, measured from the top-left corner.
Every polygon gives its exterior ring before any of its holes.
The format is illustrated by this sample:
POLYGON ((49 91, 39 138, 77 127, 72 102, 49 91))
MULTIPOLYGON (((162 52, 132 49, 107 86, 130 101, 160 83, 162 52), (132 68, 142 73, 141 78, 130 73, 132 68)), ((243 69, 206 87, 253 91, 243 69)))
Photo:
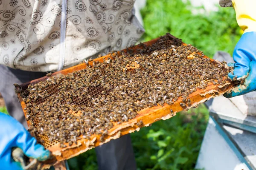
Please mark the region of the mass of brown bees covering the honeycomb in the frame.
POLYGON ((224 62, 213 63, 195 47, 181 45, 179 39, 161 37, 140 47, 121 54, 113 51, 112 59, 103 63, 89 60, 86 69, 48 75, 44 82, 29 85, 21 94, 29 131, 59 142, 60 147, 77 144, 81 138, 90 140, 93 134, 102 135, 103 142, 113 122, 127 122, 144 108, 172 105, 181 97, 180 106, 187 110, 189 94, 209 82, 224 84, 231 71, 224 62))

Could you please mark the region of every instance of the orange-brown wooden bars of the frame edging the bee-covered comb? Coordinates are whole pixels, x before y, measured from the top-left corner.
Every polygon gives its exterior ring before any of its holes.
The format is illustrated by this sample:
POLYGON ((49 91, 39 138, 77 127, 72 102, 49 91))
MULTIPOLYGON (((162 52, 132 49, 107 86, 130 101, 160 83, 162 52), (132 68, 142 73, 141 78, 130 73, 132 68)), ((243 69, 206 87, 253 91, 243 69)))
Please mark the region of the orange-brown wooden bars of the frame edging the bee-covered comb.
MULTIPOLYGON (((175 37, 173 37, 171 34, 167 33, 165 36, 169 37, 170 40, 173 40, 175 37)), ((155 42, 157 42, 157 40, 159 40, 159 38, 148 41, 148 42, 144 42, 145 45, 149 46, 154 44, 155 42)), ((182 45, 186 45, 185 43, 183 43, 182 45)), ((134 47, 132 47, 132 49, 138 49, 138 48, 142 48, 141 45, 136 45, 134 47)), ((125 50, 122 50, 123 52, 126 52, 125 50)), ((118 52, 119 53, 119 52, 118 52)), ((93 61, 99 61, 99 62, 103 62, 105 58, 111 58, 111 55, 106 55, 97 59, 94 59, 93 61)), ((191 57, 191 55, 189 56, 191 57)), ((215 61, 213 59, 211 59, 212 62, 218 62, 215 61)), ((90 65, 92 65, 92 62, 89 62, 90 65)), ((58 74, 68 74, 71 73, 73 71, 78 71, 81 69, 85 69, 86 68, 86 64, 82 63, 76 66, 73 66, 71 68, 67 68, 64 69, 62 71, 58 71, 52 74, 52 76, 58 75, 58 74)), ((35 79, 32 80, 30 82, 24 83, 22 85, 20 85, 20 87, 22 89, 26 89, 27 86, 29 84, 35 84, 37 82, 41 82, 46 80, 48 77, 42 77, 40 79, 35 79)), ((197 88, 197 91, 193 92, 192 94, 189 95, 189 99, 191 100, 191 107, 194 107, 196 105, 198 105, 199 103, 205 102, 208 99, 224 94, 227 91, 230 91, 233 87, 234 87, 234 83, 230 82, 230 80, 226 80, 226 84, 224 85, 213 85, 211 82, 208 83, 207 88, 205 89, 199 89, 197 88)), ((16 89, 18 89, 18 87, 16 87, 16 89)), ((24 110, 24 108, 26 108, 25 102, 23 101, 22 97, 20 96, 20 94, 17 94, 21 106, 23 108, 23 112, 26 116, 26 111, 24 110)), ((90 136, 90 140, 87 139, 80 139, 77 141, 77 144, 72 144, 72 146, 70 147, 66 147, 66 148, 60 148, 59 144, 55 143, 52 144, 50 147, 47 147, 47 149, 49 149, 52 152, 52 156, 53 158, 50 161, 46 161, 44 162, 44 167, 47 168, 49 167, 49 164, 58 164, 58 162, 60 161, 64 161, 67 159, 70 159, 74 156, 79 155, 80 153, 84 153, 87 150, 90 150, 93 147, 99 146, 101 144, 104 144, 106 142, 109 142, 112 139, 117 139, 120 136, 126 135, 128 133, 132 133, 134 131, 139 131, 141 127, 145 127, 148 125, 151 125, 152 123, 160 120, 160 119, 169 119, 172 116, 175 116, 177 112, 182 111, 183 108, 180 106, 180 102, 182 102, 181 97, 179 97, 179 99, 174 102, 174 104, 172 105, 167 105, 164 104, 163 106, 154 106, 152 108, 145 108, 139 112, 137 112, 137 116, 134 119, 129 120, 128 122, 124 122, 120 125, 118 125, 116 122, 113 122, 113 127, 108 130, 108 135, 105 136, 105 142, 100 142, 99 138, 100 135, 92 135, 90 136), (173 113, 171 113, 171 110, 173 111, 173 113), (140 127, 137 126, 137 122, 143 121, 143 125, 141 125, 140 127)), ((29 122, 28 122, 29 125, 29 122)), ((34 134, 32 134, 32 136, 34 136, 34 134)), ((68 144, 67 144, 68 146, 68 144)))

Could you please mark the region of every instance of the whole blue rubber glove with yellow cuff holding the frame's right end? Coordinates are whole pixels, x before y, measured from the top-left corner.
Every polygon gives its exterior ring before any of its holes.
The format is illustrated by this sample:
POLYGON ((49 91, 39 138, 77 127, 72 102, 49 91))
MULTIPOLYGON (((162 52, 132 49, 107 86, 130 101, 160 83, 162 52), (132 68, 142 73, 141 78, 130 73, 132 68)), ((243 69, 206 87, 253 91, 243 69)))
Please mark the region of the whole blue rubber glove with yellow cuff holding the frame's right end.
POLYGON ((256 91, 256 32, 246 32, 237 43, 233 59, 235 63, 228 63, 233 66, 233 74, 229 73, 230 79, 235 80, 246 77, 244 84, 239 85, 231 93, 224 94, 225 97, 234 97, 256 91))

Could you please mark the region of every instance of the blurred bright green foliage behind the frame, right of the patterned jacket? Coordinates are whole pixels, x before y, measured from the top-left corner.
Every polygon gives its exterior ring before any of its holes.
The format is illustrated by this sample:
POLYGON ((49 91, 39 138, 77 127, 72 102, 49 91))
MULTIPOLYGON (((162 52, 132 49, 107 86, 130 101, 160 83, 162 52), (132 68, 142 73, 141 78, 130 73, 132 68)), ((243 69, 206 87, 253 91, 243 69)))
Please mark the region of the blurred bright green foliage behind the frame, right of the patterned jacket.
MULTIPOLYGON (((232 55, 241 37, 233 8, 221 8, 209 14, 192 14, 191 5, 182 0, 147 0, 141 11, 148 41, 170 32, 212 57, 216 51, 232 55)), ((202 8, 201 8, 202 9, 202 8)))

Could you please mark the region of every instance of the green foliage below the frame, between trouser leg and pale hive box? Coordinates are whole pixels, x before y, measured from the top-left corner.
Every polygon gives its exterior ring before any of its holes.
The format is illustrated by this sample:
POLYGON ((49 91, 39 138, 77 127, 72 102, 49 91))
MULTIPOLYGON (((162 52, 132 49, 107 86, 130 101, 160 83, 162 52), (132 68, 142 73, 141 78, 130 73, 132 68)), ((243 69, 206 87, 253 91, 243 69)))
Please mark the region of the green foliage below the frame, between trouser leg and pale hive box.
POLYGON ((138 170, 193 169, 209 113, 204 105, 132 133, 138 170))

